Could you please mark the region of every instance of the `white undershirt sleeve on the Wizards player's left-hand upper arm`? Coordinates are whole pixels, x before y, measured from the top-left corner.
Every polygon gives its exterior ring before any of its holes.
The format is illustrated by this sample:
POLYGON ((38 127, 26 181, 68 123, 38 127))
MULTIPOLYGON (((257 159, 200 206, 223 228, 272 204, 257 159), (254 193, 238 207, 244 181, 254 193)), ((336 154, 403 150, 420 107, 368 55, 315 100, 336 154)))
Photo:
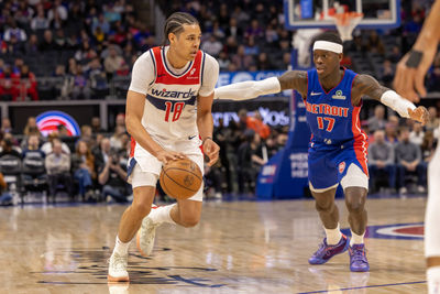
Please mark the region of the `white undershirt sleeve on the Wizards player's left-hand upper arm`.
POLYGON ((146 95, 155 78, 155 67, 150 51, 142 54, 133 65, 129 90, 146 95))

